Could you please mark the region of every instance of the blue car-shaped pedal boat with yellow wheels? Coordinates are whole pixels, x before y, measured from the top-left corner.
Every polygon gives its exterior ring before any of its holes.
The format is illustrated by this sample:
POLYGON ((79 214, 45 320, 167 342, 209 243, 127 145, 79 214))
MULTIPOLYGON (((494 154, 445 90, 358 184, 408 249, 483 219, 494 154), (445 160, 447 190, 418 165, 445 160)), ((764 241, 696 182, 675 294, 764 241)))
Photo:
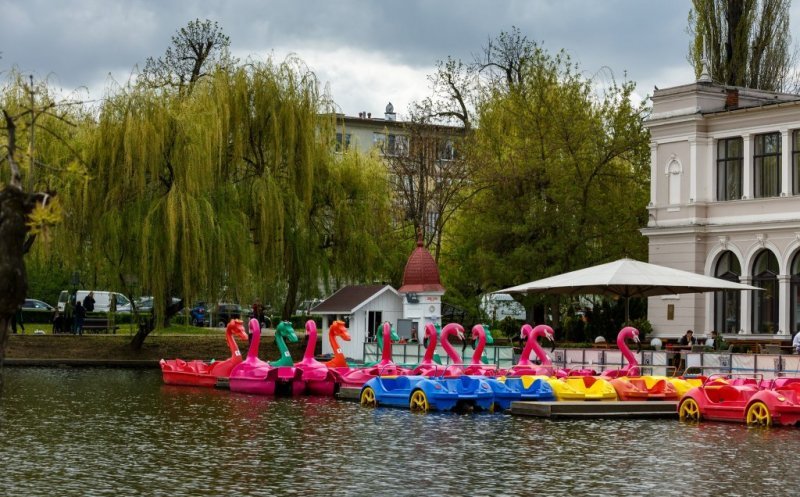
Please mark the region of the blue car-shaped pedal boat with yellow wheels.
POLYGON ((376 376, 361 389, 365 407, 408 407, 414 412, 452 411, 471 407, 491 411, 495 396, 484 378, 428 378, 420 375, 376 376))

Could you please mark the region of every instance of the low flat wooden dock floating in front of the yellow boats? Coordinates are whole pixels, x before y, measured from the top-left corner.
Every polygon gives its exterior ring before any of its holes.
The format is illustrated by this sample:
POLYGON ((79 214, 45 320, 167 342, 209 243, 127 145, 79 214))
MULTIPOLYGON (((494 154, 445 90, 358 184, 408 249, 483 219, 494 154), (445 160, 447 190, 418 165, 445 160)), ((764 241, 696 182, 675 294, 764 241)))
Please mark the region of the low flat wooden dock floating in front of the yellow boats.
POLYGON ((512 402, 511 414, 539 418, 677 418, 678 403, 667 401, 512 402))

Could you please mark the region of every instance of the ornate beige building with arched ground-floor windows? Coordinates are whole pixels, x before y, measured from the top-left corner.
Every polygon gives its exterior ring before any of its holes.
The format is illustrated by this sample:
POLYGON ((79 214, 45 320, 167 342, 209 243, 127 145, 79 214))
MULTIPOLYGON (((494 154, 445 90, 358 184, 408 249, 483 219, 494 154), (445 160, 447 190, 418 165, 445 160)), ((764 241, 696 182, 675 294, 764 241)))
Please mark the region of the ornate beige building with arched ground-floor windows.
POLYGON ((646 125, 649 261, 764 289, 651 297, 654 334, 797 332, 800 96, 697 82, 655 90, 646 125))

